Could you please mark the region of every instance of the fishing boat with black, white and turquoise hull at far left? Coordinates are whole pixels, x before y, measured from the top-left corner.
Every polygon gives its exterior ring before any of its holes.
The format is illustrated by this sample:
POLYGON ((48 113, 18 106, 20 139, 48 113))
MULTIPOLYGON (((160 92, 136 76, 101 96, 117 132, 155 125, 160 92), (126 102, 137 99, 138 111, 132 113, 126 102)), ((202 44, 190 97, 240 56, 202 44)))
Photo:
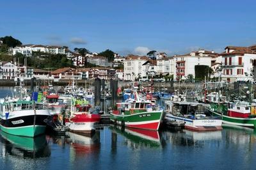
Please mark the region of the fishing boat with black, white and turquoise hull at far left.
POLYGON ((0 100, 1 130, 8 134, 35 137, 44 134, 50 112, 45 105, 32 100, 0 100))

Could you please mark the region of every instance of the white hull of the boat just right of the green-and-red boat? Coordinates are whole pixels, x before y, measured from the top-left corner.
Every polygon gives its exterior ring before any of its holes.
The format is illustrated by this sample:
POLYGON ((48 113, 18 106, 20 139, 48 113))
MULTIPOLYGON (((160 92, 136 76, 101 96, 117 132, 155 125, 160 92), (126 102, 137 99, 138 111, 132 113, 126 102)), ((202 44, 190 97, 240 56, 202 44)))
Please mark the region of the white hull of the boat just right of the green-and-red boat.
POLYGON ((166 121, 184 122, 184 126, 191 130, 221 130, 222 120, 219 119, 198 119, 193 120, 184 118, 181 116, 175 116, 173 114, 166 114, 164 117, 166 121))

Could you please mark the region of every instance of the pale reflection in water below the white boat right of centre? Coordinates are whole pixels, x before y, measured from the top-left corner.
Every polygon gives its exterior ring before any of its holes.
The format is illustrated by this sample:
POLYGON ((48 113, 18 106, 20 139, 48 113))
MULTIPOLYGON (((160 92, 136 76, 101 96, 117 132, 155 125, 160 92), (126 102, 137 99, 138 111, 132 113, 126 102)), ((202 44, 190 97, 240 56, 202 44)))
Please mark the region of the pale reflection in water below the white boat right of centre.
POLYGON ((204 146, 209 143, 220 143, 222 133, 218 131, 196 132, 190 130, 165 131, 163 138, 169 141, 173 146, 204 146))

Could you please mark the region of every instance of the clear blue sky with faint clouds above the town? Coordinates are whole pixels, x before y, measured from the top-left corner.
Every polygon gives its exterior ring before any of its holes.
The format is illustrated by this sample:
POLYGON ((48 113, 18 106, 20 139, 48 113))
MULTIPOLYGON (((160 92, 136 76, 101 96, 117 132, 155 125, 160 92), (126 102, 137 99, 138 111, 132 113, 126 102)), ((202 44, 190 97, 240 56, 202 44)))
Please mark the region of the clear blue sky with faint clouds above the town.
POLYGON ((0 1, 0 37, 23 44, 169 56, 256 44, 256 1, 0 1))

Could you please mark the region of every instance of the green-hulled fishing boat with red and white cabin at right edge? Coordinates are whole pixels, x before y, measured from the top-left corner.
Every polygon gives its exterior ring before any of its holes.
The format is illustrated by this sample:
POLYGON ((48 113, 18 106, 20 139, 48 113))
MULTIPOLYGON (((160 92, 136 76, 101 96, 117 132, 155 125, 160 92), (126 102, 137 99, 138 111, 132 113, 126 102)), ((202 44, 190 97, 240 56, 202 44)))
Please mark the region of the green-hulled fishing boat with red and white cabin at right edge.
POLYGON ((221 116, 223 123, 256 128, 256 104, 233 101, 225 104, 212 103, 208 108, 215 116, 221 116))

